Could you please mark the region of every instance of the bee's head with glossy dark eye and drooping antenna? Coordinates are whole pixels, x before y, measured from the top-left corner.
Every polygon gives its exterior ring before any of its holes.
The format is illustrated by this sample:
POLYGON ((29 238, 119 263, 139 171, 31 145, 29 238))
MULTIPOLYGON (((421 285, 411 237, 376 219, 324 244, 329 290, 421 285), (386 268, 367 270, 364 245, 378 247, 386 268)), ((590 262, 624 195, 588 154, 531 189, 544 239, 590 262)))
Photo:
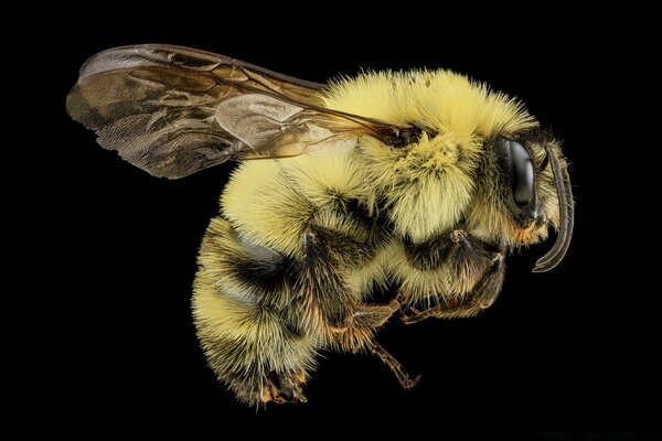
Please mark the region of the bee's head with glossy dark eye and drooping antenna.
POLYGON ((559 143, 549 133, 533 130, 495 137, 483 151, 467 229, 484 240, 517 247, 544 240, 552 225, 558 232, 556 243, 536 262, 534 272, 554 268, 567 251, 574 222, 559 143))

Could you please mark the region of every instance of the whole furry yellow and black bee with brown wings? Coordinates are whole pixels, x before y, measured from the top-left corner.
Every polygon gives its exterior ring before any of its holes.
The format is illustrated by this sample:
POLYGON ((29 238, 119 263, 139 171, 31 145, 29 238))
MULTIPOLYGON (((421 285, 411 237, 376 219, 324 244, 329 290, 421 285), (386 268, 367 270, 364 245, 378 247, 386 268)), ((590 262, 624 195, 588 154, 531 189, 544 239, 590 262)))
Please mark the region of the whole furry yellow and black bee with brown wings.
POLYGON ((505 256, 573 233, 560 143, 524 106, 450 71, 365 72, 329 84, 172 45, 94 55, 68 94, 98 143, 159 178, 238 161, 206 230, 193 316, 236 397, 306 401, 322 349, 402 365, 375 340, 489 308, 505 256), (388 303, 371 301, 387 290, 388 303))

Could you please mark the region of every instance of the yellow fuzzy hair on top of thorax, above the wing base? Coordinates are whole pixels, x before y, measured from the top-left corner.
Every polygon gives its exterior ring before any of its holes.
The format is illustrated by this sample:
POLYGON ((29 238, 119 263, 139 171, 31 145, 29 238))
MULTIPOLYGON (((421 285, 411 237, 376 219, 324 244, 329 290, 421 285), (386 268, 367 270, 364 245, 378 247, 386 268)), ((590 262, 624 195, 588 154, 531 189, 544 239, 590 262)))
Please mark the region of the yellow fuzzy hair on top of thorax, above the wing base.
POLYGON ((537 126, 515 99, 450 71, 369 72, 332 83, 327 107, 394 123, 418 122, 458 140, 537 126))

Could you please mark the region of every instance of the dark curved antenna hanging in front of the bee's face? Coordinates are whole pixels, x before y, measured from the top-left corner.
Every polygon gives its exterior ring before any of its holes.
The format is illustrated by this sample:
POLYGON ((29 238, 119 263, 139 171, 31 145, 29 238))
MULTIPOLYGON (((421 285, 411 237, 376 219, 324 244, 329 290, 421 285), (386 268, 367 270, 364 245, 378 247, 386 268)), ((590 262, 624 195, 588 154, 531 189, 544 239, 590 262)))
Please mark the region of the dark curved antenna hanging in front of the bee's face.
POLYGON ((573 238, 575 225, 575 202, 573 201, 573 189, 567 168, 562 168, 556 154, 553 154, 547 146, 547 157, 552 164, 556 193, 558 194, 558 211, 560 220, 558 223, 556 241, 547 254, 535 262, 533 272, 545 272, 556 267, 564 258, 573 238))

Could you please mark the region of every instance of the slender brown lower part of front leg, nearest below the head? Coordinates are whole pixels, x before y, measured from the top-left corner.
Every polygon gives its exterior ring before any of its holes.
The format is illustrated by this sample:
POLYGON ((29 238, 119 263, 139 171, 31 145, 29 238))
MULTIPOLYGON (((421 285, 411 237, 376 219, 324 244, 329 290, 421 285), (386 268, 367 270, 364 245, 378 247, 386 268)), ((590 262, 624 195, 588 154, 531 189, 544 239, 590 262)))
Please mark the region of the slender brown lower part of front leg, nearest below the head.
POLYGON ((473 316, 494 303, 501 291, 504 275, 505 265, 503 262, 503 254, 496 252, 492 260, 492 265, 468 295, 460 300, 446 300, 444 303, 424 311, 410 308, 410 311, 414 312, 414 314, 403 314, 401 319, 405 324, 412 324, 429 318, 461 319, 473 316))

